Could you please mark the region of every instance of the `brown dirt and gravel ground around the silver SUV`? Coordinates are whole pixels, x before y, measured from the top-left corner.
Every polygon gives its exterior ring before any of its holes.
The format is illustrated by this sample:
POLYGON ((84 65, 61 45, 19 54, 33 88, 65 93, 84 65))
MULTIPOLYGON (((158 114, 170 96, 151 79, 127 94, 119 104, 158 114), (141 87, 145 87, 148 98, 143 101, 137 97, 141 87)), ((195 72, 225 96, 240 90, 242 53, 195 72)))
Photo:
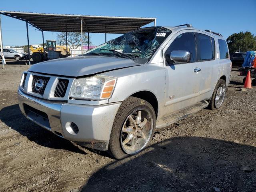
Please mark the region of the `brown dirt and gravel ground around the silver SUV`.
POLYGON ((0 191, 256 192, 256 88, 232 71, 220 110, 156 130, 138 155, 113 160, 27 120, 16 90, 26 65, 0 69, 0 191))

